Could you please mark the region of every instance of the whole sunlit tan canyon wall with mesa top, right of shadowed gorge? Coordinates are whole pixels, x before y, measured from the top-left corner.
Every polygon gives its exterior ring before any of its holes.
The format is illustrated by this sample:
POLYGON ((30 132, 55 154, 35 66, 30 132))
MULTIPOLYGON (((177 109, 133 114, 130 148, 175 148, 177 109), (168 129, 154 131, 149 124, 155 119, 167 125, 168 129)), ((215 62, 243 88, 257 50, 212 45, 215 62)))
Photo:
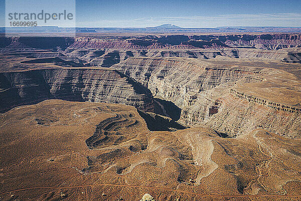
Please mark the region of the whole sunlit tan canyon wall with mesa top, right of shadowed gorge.
POLYGON ((230 136, 256 128, 285 136, 301 133, 297 129, 300 107, 276 97, 286 93, 284 96, 292 102, 300 95, 298 82, 282 71, 209 66, 197 59, 145 57, 131 57, 113 67, 147 86, 155 96, 175 103, 182 109, 179 122, 185 125, 206 125, 230 136), (283 124, 285 121, 289 125, 283 124))

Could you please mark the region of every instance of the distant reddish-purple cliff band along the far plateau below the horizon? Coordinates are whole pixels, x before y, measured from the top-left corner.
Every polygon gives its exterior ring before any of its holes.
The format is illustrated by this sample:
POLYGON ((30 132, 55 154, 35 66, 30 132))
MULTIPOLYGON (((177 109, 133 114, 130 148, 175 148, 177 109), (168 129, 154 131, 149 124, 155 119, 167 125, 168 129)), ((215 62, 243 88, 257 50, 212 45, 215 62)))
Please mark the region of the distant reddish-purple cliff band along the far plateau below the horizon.
POLYGON ((264 45, 270 50, 289 47, 301 47, 300 34, 226 34, 226 35, 171 35, 142 36, 132 38, 85 38, 78 37, 70 48, 105 48, 105 49, 194 49, 228 47, 233 45, 264 45))

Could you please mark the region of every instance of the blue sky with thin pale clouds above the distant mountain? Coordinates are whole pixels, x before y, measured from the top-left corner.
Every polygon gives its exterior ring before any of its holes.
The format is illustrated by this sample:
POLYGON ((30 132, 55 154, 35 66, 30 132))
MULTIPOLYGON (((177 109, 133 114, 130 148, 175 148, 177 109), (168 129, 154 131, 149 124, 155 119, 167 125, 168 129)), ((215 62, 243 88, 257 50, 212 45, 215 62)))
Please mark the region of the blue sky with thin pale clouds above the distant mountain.
MULTIPOLYGON (((20 5, 22 0, 20 0, 20 5)), ((39 3, 36 0, 37 4, 39 3)), ((0 0, 4 22, 5 0, 0 0)), ((300 0, 76 1, 78 27, 301 26, 300 0)))

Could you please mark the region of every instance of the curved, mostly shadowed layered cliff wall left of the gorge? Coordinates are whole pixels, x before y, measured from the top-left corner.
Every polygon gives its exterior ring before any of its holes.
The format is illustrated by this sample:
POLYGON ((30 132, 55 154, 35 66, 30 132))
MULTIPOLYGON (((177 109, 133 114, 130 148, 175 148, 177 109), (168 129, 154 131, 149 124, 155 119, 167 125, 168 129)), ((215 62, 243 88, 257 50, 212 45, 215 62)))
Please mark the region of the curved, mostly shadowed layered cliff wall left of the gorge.
POLYGON ((39 69, 1 73, 0 78, 1 111, 50 98, 154 110, 152 93, 116 70, 39 69))

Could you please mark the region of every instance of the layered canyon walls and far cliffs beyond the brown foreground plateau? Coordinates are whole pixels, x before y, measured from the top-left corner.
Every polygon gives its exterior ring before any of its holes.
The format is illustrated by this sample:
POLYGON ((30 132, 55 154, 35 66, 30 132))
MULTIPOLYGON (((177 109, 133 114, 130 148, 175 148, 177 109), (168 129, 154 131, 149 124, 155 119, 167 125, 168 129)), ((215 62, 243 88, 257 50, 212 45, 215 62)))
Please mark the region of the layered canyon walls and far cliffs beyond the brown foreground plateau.
POLYGON ((130 105, 231 137, 300 133, 299 35, 56 39, 2 41, 2 112, 63 99, 130 105))

